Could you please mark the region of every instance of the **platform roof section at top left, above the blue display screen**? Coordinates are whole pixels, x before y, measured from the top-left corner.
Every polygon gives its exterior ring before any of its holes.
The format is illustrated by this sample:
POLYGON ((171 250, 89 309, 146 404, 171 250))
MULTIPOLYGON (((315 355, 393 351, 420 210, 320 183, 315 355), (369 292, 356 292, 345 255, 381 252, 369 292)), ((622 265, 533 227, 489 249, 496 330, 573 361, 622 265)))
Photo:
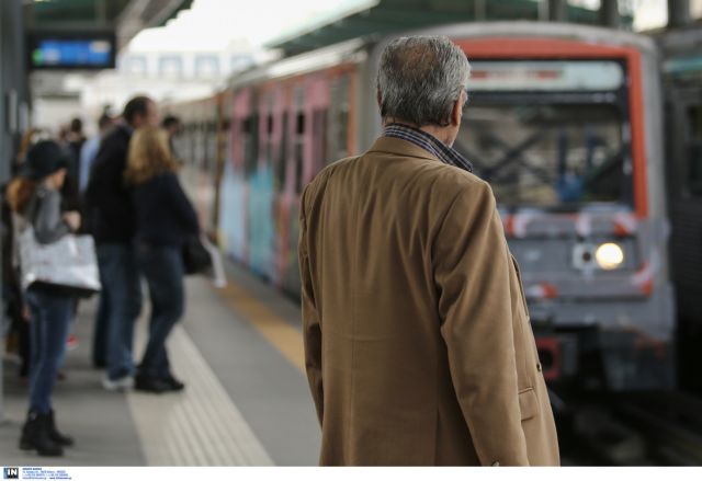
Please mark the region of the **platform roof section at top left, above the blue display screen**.
POLYGON ((34 0, 25 2, 30 28, 114 30, 124 47, 144 28, 161 26, 193 0, 34 0))

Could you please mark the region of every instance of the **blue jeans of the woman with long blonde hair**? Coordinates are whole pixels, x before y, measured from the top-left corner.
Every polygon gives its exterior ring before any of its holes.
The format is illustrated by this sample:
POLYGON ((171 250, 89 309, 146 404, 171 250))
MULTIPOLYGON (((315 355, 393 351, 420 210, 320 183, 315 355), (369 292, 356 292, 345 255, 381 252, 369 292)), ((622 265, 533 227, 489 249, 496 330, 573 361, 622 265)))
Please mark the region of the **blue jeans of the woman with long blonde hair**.
POLYGON ((166 379, 171 376, 166 340, 185 309, 183 260, 179 248, 144 243, 137 245, 137 257, 151 299, 149 341, 139 375, 166 379))

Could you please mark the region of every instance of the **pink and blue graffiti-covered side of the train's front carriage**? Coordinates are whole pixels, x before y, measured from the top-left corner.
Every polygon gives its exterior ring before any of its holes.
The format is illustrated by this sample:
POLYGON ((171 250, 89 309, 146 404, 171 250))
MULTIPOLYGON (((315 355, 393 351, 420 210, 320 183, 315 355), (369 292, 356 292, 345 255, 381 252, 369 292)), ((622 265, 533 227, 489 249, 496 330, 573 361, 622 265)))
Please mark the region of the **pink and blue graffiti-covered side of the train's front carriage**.
POLYGON ((355 145, 354 66, 234 90, 222 180, 223 249, 291 294, 299 293, 298 205, 304 186, 355 145))

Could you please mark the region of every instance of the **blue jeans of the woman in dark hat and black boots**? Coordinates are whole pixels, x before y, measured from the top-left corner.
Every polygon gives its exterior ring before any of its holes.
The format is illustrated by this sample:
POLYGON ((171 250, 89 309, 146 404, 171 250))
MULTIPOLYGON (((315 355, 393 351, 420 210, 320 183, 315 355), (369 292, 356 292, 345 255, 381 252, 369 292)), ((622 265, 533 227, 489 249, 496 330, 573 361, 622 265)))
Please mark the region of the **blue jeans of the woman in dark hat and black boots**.
POLYGON ((73 299, 63 294, 34 290, 26 293, 30 306, 30 410, 47 414, 52 391, 66 351, 73 299))

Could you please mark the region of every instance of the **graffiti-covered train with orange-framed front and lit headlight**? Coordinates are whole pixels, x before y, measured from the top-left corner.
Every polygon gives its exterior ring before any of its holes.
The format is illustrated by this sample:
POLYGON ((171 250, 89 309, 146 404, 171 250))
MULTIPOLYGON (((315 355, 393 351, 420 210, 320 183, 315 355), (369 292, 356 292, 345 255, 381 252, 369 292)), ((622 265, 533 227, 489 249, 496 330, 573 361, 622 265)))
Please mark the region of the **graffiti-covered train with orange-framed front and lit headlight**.
MULTIPOLYGON (((471 61, 454 147, 492 186, 546 380, 585 390, 677 387, 677 320, 699 311, 680 304, 673 280, 681 268, 702 272, 702 261, 672 265, 690 259, 671 255, 680 202, 668 183, 679 152, 666 145, 680 145, 664 129, 663 82, 680 80, 661 76, 660 46, 647 35, 537 22, 405 34, 446 35, 471 61)), ((183 121, 176 149, 206 229, 284 293, 299 293, 301 193, 325 165, 381 135, 376 66, 398 35, 259 66, 212 98, 165 106, 183 121)))

